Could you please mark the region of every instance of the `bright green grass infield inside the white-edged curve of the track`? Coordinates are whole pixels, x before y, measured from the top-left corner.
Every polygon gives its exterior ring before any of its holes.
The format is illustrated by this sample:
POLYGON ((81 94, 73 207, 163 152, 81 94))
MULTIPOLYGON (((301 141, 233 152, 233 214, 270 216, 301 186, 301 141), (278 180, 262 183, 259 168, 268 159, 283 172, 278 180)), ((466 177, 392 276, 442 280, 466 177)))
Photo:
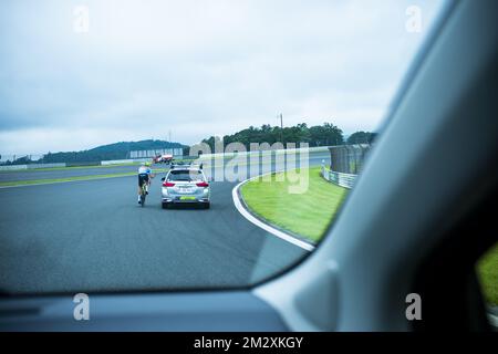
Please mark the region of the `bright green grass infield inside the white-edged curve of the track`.
POLYGON ((271 181, 250 180, 241 186, 240 192, 249 209, 260 218, 318 242, 334 219, 347 189, 323 179, 320 167, 307 171, 309 188, 303 194, 290 194, 288 187, 292 184, 288 178, 278 181, 276 176, 271 181))

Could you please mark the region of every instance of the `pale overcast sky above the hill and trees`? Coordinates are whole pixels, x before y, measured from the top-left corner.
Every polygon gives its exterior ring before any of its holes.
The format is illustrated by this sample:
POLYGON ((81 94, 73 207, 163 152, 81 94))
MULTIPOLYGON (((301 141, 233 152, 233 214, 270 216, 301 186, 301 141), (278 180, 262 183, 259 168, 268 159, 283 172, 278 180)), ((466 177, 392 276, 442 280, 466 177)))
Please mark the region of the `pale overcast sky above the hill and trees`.
POLYGON ((442 1, 0 2, 0 154, 375 129, 442 1), (406 9, 422 10, 422 32, 406 9), (76 6, 89 9, 89 27, 76 6), (75 27, 76 24, 76 27, 75 27), (83 32, 82 32, 83 31, 83 32))

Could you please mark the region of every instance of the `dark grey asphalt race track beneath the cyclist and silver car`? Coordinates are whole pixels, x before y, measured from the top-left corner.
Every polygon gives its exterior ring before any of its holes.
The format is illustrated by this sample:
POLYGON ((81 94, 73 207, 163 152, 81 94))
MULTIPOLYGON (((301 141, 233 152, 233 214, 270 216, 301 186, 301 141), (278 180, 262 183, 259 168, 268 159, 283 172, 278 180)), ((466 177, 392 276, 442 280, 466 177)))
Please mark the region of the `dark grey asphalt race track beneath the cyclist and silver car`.
MULTIPOLYGON (((310 165, 323 158, 328 160, 323 153, 313 155, 310 165)), ((129 171, 136 166, 125 168, 129 171)), ((108 169, 98 170, 107 174, 108 169)), ((77 173, 85 176, 89 170, 77 173)), ((56 175, 49 178, 61 178, 73 170, 48 173, 56 175)), ((4 173, 2 177, 10 174, 30 178, 35 173, 4 173)), ((236 183, 211 183, 209 210, 164 210, 162 176, 154 180, 144 208, 136 200, 135 176, 1 188, 0 291, 242 287, 308 254, 247 221, 234 207, 236 183)))

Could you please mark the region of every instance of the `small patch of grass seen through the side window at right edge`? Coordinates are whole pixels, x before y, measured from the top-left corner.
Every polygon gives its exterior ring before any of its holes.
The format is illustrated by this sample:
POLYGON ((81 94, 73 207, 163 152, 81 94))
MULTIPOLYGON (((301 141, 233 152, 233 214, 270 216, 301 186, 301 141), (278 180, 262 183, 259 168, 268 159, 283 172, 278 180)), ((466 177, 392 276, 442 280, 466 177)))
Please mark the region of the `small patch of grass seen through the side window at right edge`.
POLYGON ((486 302, 498 306, 498 242, 477 262, 477 274, 486 302))

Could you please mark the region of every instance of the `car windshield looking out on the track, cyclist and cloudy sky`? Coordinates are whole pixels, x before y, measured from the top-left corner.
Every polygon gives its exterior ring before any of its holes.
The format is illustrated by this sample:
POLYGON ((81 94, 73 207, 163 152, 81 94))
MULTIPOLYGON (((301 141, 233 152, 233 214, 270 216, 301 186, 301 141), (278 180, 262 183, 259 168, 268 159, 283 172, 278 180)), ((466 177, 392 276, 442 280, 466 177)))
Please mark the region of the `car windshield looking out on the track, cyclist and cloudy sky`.
POLYGON ((1 1, 0 292, 291 269, 333 228, 444 4, 1 1), (194 166, 209 188, 163 188, 203 180, 194 166))

